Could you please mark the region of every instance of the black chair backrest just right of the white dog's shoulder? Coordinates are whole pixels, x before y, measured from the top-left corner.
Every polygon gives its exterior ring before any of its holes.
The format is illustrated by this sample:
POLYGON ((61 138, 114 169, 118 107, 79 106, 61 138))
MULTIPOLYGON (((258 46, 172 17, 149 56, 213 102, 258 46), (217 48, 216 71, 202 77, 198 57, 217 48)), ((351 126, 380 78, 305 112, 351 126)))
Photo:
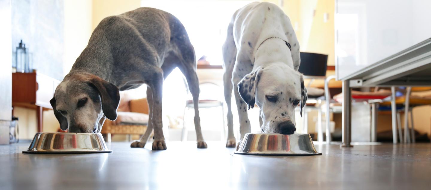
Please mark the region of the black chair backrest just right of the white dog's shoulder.
POLYGON ((326 76, 328 55, 300 52, 299 72, 306 76, 326 76))

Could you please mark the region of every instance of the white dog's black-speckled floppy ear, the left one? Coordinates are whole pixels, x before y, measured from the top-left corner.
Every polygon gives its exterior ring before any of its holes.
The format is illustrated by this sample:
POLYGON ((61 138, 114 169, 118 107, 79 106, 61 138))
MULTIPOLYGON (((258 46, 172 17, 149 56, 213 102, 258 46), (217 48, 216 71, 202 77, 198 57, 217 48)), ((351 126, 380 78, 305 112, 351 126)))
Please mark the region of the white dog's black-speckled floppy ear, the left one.
POLYGON ((241 98, 247 103, 249 110, 254 107, 257 83, 259 82, 262 71, 263 70, 259 67, 244 76, 244 78, 238 83, 238 92, 240 93, 241 98))

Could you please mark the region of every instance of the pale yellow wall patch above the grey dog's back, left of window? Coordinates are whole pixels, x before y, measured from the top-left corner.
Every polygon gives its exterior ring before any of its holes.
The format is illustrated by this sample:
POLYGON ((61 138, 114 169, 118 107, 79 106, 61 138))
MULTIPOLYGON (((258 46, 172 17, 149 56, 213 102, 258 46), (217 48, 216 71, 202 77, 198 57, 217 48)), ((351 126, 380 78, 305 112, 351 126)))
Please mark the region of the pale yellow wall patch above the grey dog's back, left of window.
POLYGON ((141 7, 141 0, 93 0, 92 31, 103 18, 139 7, 141 7))

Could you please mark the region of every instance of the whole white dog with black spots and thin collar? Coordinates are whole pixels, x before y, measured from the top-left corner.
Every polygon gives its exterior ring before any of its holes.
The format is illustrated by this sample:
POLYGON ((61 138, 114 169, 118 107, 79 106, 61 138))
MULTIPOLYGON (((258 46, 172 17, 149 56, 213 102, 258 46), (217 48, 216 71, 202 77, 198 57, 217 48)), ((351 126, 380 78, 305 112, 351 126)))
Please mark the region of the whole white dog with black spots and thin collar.
POLYGON ((238 9, 223 45, 228 140, 235 147, 231 93, 234 89, 240 121, 240 141, 251 132, 247 108, 259 107, 264 133, 293 134, 295 108, 307 99, 300 65, 299 43, 290 19, 275 4, 250 3, 238 9))

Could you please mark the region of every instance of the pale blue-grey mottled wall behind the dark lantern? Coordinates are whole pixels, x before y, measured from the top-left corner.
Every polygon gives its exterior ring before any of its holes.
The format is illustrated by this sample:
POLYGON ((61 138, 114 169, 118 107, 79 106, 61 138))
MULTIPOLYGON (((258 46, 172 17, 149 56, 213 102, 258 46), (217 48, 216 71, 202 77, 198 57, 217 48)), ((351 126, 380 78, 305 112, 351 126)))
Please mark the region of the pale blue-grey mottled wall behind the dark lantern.
POLYGON ((12 63, 16 46, 25 43, 38 73, 63 78, 63 0, 12 0, 12 63))

